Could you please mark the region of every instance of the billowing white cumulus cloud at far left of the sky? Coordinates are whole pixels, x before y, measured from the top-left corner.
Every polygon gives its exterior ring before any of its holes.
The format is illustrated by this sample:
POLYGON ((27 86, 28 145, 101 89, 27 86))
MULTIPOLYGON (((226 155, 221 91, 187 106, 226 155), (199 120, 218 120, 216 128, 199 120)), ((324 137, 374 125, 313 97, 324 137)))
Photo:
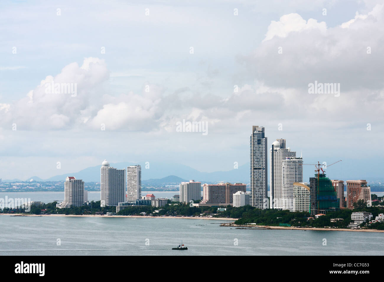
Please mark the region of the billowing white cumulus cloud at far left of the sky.
POLYGON ((70 129, 81 119, 82 112, 92 114, 89 109, 100 101, 107 80, 108 69, 103 60, 86 58, 81 67, 68 64, 56 76, 46 76, 25 98, 0 107, 1 125, 16 123, 18 129, 70 129), (77 93, 71 94, 70 88, 55 93, 55 87, 50 88, 52 83, 76 85, 77 93))

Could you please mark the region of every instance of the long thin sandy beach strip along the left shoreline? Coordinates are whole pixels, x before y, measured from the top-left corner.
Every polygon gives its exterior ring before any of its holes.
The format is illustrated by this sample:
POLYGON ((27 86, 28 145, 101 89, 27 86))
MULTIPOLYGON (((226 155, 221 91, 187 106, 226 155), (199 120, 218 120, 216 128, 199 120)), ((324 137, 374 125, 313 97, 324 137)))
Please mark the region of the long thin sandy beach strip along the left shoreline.
POLYGON ((214 219, 214 220, 230 220, 235 221, 237 218, 207 218, 207 217, 187 217, 187 216, 140 216, 140 215, 100 215, 100 214, 9 214, 9 213, 0 213, 0 215, 9 215, 9 216, 69 216, 69 217, 99 217, 99 218, 181 218, 181 219, 214 219))

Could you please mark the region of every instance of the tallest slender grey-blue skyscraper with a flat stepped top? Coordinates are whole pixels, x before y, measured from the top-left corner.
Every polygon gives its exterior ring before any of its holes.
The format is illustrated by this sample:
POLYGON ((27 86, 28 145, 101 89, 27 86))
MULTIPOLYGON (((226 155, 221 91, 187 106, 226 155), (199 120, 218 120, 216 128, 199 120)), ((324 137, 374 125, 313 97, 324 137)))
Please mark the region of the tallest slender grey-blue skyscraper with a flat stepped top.
POLYGON ((267 138, 265 128, 258 125, 252 126, 250 136, 250 188, 252 206, 265 209, 269 206, 267 191, 267 138))

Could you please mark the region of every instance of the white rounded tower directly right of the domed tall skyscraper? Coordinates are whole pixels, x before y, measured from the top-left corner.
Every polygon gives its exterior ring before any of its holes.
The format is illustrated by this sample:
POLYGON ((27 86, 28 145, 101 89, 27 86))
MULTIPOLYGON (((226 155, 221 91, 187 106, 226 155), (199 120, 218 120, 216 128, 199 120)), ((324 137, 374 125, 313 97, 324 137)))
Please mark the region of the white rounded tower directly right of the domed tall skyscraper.
POLYGON ((285 158, 281 161, 281 202, 282 209, 294 209, 293 183, 303 182, 303 159, 285 158))

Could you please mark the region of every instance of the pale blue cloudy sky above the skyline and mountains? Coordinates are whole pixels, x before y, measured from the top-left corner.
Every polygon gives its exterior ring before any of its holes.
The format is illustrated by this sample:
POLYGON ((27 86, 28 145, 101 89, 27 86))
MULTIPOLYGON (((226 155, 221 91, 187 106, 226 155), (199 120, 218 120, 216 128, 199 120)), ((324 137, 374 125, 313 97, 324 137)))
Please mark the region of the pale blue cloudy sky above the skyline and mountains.
POLYGON ((332 179, 383 177, 381 1, 2 1, 0 22, 0 178, 104 159, 231 170, 252 125, 268 149, 343 160, 332 179))

